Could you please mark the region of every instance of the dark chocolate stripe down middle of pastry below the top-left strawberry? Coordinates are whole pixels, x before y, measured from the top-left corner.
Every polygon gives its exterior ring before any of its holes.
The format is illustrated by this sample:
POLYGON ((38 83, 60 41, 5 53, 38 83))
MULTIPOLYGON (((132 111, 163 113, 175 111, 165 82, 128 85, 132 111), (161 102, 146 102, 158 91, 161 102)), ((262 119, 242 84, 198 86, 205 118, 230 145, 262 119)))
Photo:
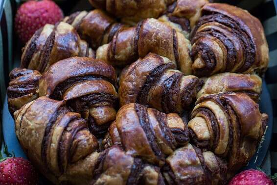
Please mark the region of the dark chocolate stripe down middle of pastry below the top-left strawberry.
POLYGON ((52 33, 49 35, 49 37, 47 38, 46 43, 42 49, 40 64, 38 67, 38 71, 40 71, 40 72, 44 72, 44 70, 49 62, 50 54, 52 52, 54 42, 55 42, 55 35, 56 35, 55 32, 56 32, 56 27, 52 31, 52 33))

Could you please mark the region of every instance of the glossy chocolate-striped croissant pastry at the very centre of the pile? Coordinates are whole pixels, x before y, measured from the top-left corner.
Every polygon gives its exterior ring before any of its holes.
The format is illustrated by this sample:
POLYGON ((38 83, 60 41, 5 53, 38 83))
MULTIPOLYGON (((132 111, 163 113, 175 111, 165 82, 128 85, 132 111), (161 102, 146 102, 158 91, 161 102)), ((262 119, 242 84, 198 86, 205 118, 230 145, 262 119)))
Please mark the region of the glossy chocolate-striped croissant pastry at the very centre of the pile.
POLYGON ((184 76, 169 59, 149 53, 123 70, 119 83, 120 106, 139 103, 165 113, 187 109, 201 88, 195 76, 184 76))

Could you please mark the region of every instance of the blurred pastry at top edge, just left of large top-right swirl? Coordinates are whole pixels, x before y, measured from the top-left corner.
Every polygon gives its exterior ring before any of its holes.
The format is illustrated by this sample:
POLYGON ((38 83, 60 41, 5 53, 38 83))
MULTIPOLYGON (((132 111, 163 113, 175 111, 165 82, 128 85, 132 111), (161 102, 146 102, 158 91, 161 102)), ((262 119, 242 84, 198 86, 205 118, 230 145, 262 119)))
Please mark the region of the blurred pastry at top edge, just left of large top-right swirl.
POLYGON ((191 28, 201 16, 201 8, 208 2, 209 0, 177 0, 168 6, 165 14, 158 20, 174 27, 188 38, 191 28))

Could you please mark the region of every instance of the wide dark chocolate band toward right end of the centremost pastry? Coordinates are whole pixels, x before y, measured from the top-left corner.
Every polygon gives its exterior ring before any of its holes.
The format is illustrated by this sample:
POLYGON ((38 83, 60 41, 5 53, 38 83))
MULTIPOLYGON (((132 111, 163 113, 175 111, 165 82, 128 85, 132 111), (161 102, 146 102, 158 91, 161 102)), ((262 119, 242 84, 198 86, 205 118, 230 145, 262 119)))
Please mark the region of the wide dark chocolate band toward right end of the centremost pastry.
POLYGON ((177 112, 176 107, 178 100, 174 100, 173 96, 180 92, 182 77, 182 73, 175 73, 163 81, 162 109, 165 113, 177 112))

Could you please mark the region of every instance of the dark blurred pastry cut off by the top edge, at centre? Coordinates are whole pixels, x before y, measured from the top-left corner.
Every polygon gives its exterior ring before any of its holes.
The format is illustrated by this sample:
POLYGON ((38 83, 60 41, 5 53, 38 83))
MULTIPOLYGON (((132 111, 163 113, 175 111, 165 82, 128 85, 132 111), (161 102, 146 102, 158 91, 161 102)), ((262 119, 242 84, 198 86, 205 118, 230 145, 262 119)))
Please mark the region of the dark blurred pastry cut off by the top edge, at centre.
POLYGON ((142 19, 158 18, 174 0, 89 0, 93 7, 106 10, 135 25, 142 19))

